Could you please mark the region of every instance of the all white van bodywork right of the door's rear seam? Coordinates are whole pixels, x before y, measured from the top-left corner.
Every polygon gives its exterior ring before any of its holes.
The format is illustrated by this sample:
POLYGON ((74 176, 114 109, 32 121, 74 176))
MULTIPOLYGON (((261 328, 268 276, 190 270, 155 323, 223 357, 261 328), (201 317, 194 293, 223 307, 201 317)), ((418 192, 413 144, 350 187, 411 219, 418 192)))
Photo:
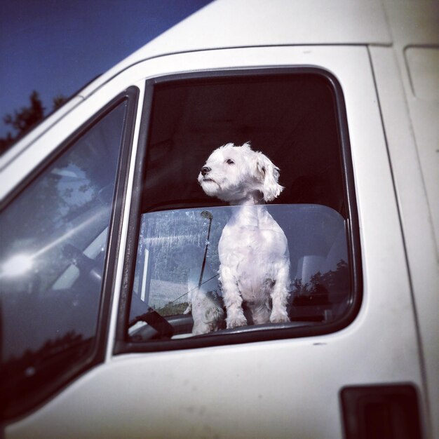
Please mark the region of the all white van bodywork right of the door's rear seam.
POLYGON ((371 47, 439 435, 439 4, 386 1, 391 48, 371 47), (421 63, 421 65, 419 65, 421 63), (434 312, 432 312, 435 310, 434 312))

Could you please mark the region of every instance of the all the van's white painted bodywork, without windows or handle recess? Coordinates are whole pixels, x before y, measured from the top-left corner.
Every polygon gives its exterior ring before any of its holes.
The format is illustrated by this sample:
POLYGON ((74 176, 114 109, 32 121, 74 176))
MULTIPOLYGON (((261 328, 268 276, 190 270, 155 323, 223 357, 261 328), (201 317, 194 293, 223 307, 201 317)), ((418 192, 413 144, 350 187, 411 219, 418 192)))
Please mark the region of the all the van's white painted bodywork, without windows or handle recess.
POLYGON ((106 360, 8 424, 5 438, 341 438, 340 389, 382 383, 414 384, 425 437, 438 438, 439 101, 428 86, 438 14, 437 1, 214 1, 93 81, 8 151, 0 199, 109 100, 129 86, 140 90, 106 360), (425 60, 430 67, 419 70, 425 60), (319 337, 114 356, 144 81, 295 65, 327 69, 344 93, 363 264, 360 313, 344 330, 319 337), (426 75, 426 88, 419 90, 416 72, 426 75))

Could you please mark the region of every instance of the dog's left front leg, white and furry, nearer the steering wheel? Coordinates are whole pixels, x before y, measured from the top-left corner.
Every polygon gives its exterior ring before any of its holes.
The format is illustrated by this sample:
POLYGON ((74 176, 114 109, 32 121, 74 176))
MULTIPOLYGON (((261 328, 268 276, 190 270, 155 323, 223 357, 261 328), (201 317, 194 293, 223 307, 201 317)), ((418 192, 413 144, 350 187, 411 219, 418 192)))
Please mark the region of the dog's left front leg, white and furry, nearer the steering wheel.
POLYGON ((247 325, 243 311, 243 298, 235 276, 229 267, 219 266, 219 281, 222 285, 222 298, 227 309, 227 329, 247 325))

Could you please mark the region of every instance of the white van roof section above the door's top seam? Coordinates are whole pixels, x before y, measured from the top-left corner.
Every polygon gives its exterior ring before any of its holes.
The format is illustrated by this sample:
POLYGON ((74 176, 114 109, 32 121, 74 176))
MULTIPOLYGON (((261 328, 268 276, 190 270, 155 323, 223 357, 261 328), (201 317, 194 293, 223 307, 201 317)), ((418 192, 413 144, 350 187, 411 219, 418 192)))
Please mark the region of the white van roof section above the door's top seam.
POLYGON ((392 43, 380 0, 215 0, 136 50, 85 88, 86 96, 130 65, 218 48, 392 43))

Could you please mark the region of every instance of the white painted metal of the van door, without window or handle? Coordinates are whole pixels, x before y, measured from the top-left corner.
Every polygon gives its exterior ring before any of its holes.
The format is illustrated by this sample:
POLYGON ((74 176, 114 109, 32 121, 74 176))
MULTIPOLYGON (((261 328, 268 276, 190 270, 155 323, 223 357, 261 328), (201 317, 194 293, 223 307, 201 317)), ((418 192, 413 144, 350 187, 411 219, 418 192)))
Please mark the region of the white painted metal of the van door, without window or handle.
MULTIPOLYGON (((183 352, 114 357, 110 334, 107 362, 8 426, 7 438, 117 438, 134 437, 139 431, 151 438, 205 433, 286 438, 292 432, 295 438, 339 438, 337 394, 343 386, 401 381, 423 386, 403 237, 395 227, 398 209, 367 48, 243 48, 202 57, 169 55, 123 72, 93 95, 95 105, 101 99, 97 95, 114 95, 138 83, 145 72, 149 77, 171 74, 175 65, 180 72, 318 65, 337 75, 346 101, 360 217, 360 314, 332 335, 183 352), (313 420, 316 413, 318 422, 313 420)), ((114 320, 117 298, 115 292, 114 320)))

